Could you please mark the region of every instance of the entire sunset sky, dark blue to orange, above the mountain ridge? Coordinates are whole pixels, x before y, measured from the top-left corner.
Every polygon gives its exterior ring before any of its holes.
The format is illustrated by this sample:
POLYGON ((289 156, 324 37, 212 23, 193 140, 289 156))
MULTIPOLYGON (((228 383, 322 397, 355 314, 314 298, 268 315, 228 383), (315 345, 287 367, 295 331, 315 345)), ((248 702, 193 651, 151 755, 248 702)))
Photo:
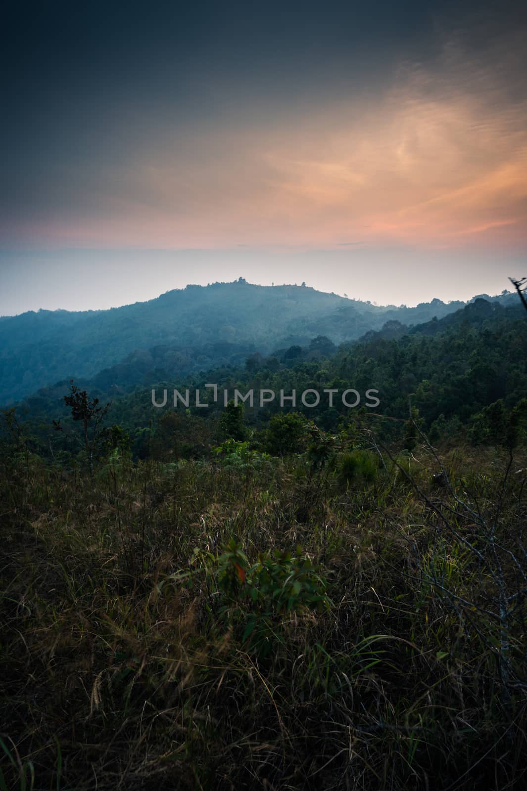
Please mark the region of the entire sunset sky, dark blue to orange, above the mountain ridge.
POLYGON ((506 289, 527 11, 458 6, 10 4, 0 315, 240 276, 395 305, 506 289))

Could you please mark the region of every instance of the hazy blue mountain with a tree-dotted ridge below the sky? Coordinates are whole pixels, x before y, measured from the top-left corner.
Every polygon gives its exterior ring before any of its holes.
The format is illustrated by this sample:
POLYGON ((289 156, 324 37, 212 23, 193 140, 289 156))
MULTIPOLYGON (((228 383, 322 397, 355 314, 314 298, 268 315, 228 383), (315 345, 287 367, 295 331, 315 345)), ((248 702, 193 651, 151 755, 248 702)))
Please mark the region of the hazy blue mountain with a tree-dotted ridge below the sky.
MULTIPOLYGON (((510 298, 495 299, 506 303, 510 298)), ((131 361, 143 369, 169 365, 178 373, 210 369, 237 364, 254 352, 302 346, 317 335, 343 343, 387 321, 439 320, 463 306, 434 299, 415 308, 381 307, 308 286, 255 286, 240 278, 187 286, 109 310, 5 316, 0 320, 0 404, 131 361)))

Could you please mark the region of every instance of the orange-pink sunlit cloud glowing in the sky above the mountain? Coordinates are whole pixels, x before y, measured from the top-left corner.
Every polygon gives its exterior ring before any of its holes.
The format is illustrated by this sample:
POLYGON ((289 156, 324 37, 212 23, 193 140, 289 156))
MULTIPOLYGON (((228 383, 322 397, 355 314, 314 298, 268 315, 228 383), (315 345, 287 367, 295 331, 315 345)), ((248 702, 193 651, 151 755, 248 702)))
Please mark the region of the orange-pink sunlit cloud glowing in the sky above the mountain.
MULTIPOLYGON (((507 44, 496 46, 493 62, 507 44)), ((368 99, 165 133, 161 148, 108 168, 84 211, 43 221, 40 236, 167 248, 525 245, 527 102, 504 79, 454 40, 434 69, 404 66, 368 99)))

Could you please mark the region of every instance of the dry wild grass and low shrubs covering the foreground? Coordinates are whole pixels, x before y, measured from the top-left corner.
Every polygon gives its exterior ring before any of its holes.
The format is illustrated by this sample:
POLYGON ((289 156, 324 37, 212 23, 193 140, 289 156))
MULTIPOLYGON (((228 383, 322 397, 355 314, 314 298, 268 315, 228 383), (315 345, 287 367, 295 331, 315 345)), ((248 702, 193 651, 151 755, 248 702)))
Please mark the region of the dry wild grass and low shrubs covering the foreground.
POLYGON ((525 787, 525 452, 2 467, 0 789, 525 787))

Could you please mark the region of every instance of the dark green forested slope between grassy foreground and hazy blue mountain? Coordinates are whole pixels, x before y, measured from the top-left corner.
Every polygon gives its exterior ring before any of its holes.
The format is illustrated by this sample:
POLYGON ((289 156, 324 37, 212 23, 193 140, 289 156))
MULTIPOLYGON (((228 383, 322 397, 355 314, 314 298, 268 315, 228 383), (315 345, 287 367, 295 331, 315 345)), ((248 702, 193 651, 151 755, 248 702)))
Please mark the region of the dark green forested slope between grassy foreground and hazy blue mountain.
MULTIPOLYGON (((170 346, 155 347, 132 354, 93 379, 77 381, 100 403, 112 404, 101 427, 108 433, 117 425, 127 433, 135 458, 150 453, 160 460, 210 455, 211 447, 228 438, 222 423, 224 389, 228 400, 233 399, 235 388, 241 395, 250 390, 256 393, 252 407, 239 405, 244 422, 240 436, 260 450, 267 448, 272 418, 281 415, 283 419, 289 412, 300 414, 305 425, 314 422, 328 433, 367 422, 384 441, 405 441, 411 408, 433 441, 466 436, 474 442, 486 441, 491 405, 510 413, 527 394, 525 311, 521 305, 504 308, 483 299, 415 327, 391 320, 380 331, 338 347, 327 337, 317 336, 306 346, 294 344, 274 350, 271 356, 243 354, 237 363, 181 378, 173 373, 174 354, 170 346), (207 383, 218 385, 221 395, 216 403, 207 383), (160 396, 165 389, 170 394, 166 407, 153 406, 153 388, 160 396), (181 393, 198 388, 201 398, 208 399, 208 407, 195 407, 190 401, 187 410, 181 403, 174 409, 174 388, 181 393), (262 388, 276 393, 264 407, 257 395, 262 388), (346 407, 340 397, 347 388, 362 395, 355 409, 346 407), (315 407, 301 403, 301 393, 308 389, 320 393, 315 407), (336 390, 332 406, 324 389, 336 390), (376 409, 366 407, 364 395, 369 389, 377 391, 380 404, 376 409), (293 390, 296 405, 284 401, 280 407, 280 391, 290 395, 293 390)), ((17 407, 18 419, 28 422, 34 452, 71 457, 82 452, 78 426, 68 422, 69 409, 63 400, 69 390, 70 383, 64 380, 42 388, 17 407), (52 422, 60 419, 67 430, 53 431, 52 422)), ((100 452, 104 452, 104 436, 101 432, 100 452)))

